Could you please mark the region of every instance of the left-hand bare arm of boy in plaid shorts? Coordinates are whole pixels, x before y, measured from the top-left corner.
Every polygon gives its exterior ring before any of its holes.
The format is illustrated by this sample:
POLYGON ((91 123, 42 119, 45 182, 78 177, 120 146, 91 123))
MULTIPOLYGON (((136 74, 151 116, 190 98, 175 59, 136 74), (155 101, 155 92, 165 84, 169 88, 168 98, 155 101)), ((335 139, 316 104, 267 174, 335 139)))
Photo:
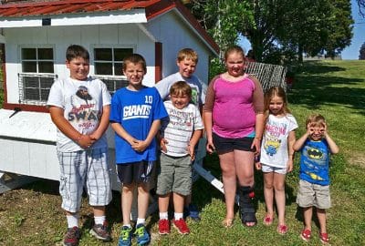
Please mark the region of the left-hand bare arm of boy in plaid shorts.
POLYGON ((82 135, 69 124, 63 115, 64 109, 55 106, 50 106, 48 109, 53 123, 66 137, 75 141, 83 149, 89 148, 94 143, 95 140, 91 139, 89 135, 82 135))

